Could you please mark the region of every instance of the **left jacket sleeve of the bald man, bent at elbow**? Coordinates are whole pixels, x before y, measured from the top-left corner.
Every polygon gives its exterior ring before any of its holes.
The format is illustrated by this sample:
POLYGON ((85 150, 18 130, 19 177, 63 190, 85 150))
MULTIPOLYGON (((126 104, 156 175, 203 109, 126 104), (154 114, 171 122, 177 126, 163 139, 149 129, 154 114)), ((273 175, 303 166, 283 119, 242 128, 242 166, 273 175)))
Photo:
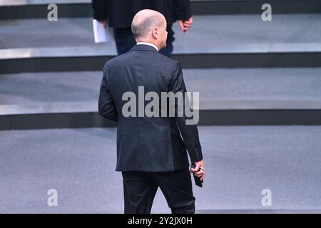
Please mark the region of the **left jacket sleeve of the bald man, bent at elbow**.
POLYGON ((117 119, 117 110, 115 103, 113 103, 113 98, 111 93, 108 90, 107 84, 107 73, 106 69, 103 69, 103 78, 101 79, 101 89, 99 92, 98 100, 98 111, 99 114, 108 120, 118 121, 117 119))

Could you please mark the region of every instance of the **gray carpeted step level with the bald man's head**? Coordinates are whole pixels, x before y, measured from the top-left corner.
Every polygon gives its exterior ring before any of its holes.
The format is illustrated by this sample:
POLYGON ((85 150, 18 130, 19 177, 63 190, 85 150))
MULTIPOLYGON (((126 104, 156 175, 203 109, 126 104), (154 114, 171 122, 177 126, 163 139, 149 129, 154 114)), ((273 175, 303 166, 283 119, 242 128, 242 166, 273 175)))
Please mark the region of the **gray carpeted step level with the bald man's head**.
MULTIPOLYGON (((0 21, 0 48, 93 46, 91 20, 3 20, 0 21)), ((260 14, 194 16, 193 27, 187 35, 175 24, 175 51, 213 52, 243 46, 260 47, 264 51, 273 46, 316 44, 321 40, 320 20, 320 14, 273 15, 272 21, 262 21, 260 14)), ((115 48, 113 43, 103 47, 115 48)))

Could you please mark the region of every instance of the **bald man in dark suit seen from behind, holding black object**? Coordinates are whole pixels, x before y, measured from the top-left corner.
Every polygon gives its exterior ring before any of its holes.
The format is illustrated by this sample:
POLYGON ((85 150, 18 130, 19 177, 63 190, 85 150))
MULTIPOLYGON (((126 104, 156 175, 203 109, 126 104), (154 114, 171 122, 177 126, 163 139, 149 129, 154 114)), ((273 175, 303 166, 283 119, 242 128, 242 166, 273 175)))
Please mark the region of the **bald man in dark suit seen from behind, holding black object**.
POLYGON ((178 115, 178 99, 172 117, 161 115, 163 106, 157 105, 154 116, 140 113, 151 100, 148 93, 160 98, 161 93, 186 92, 180 63, 158 53, 166 45, 165 17, 157 11, 139 11, 132 31, 137 44, 105 64, 98 101, 100 115, 118 122, 116 171, 123 175, 125 213, 150 213, 158 187, 173 213, 194 213, 190 172, 205 178, 196 125, 186 124, 185 111, 178 115), (128 99, 141 99, 142 87, 143 103, 128 99), (195 169, 188 169, 186 150, 195 169))

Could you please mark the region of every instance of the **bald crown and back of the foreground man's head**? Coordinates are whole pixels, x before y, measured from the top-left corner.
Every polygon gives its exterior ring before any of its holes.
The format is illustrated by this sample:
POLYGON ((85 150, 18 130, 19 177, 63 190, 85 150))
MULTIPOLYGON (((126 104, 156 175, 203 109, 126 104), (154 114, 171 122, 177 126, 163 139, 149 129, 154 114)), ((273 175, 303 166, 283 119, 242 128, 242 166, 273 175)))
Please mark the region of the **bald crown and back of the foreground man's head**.
POLYGON ((139 38, 148 38, 153 28, 161 27, 165 24, 165 21, 163 14, 158 11, 143 9, 134 16, 131 31, 136 40, 139 38))

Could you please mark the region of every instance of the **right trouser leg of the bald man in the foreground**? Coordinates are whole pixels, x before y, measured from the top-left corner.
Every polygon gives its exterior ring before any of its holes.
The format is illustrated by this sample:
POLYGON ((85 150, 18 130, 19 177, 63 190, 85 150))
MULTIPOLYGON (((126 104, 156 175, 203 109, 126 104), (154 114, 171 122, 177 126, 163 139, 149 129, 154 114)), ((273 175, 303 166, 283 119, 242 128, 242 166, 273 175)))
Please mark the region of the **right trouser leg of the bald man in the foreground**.
POLYGON ((173 214, 195 213, 195 197, 188 168, 155 173, 153 180, 161 188, 173 214))

